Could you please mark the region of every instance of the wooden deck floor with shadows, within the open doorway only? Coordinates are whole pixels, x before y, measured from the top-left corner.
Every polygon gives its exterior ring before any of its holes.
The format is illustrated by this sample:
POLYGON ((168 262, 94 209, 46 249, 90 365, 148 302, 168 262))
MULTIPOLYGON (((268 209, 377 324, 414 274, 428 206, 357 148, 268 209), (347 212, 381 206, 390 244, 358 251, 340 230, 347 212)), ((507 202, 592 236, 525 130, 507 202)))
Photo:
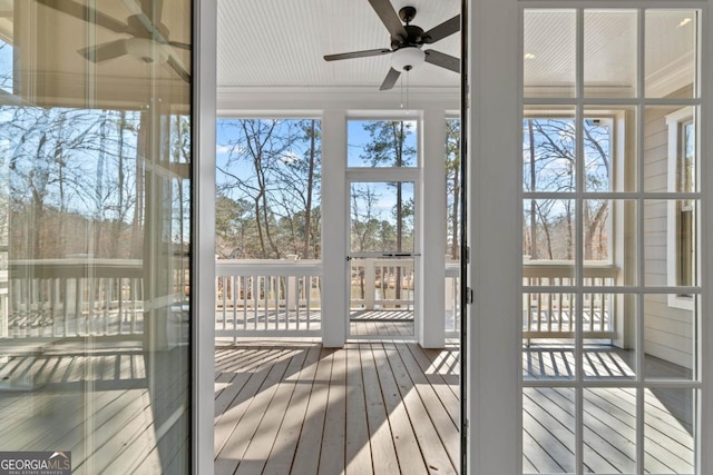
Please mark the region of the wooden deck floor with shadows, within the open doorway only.
POLYGON ((457 347, 253 342, 216 350, 216 474, 455 474, 457 347))

